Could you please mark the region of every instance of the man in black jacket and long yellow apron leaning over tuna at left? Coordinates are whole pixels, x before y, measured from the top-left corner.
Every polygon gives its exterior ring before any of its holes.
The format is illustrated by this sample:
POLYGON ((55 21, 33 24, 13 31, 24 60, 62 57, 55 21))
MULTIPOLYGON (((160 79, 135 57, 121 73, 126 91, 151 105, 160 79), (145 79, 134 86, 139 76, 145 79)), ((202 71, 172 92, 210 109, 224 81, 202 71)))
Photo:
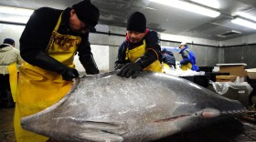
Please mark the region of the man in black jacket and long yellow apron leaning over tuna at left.
POLYGON ((88 41, 100 17, 90 0, 83 0, 65 10, 42 7, 30 16, 20 38, 20 54, 26 61, 20 66, 16 101, 17 141, 46 141, 48 137, 27 132, 21 117, 35 114, 58 102, 79 76, 73 64, 78 52, 86 73, 98 74, 88 41))

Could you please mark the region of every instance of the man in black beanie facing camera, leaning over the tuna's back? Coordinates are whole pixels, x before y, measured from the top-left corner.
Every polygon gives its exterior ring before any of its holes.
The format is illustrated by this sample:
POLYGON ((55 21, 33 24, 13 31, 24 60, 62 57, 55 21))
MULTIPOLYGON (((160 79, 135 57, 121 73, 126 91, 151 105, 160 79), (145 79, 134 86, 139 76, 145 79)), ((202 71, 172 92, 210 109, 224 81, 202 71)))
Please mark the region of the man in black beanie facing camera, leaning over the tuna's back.
POLYGON ((142 70, 161 72, 161 47, 155 31, 146 29, 144 14, 134 12, 127 21, 126 40, 119 47, 118 76, 137 77, 142 70))

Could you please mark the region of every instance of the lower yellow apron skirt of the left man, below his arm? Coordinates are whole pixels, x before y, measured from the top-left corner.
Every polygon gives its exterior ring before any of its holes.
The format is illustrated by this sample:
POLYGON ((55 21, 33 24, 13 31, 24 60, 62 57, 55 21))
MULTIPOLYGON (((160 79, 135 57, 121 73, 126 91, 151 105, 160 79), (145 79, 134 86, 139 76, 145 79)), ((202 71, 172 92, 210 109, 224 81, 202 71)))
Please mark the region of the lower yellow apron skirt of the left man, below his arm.
MULTIPOLYGON (((57 103, 71 88, 72 82, 62 80, 57 73, 24 63, 20 67, 15 111, 17 142, 45 142, 43 137, 24 130, 20 121, 57 103)), ((40 128, 40 127, 38 127, 40 128)))

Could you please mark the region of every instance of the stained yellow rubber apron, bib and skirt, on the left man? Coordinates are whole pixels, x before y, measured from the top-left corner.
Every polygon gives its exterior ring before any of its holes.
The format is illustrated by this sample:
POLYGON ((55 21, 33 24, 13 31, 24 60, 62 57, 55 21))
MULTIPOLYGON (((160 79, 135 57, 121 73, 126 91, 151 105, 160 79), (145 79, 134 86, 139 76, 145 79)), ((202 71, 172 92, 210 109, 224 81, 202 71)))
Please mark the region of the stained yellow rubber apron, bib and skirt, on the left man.
MULTIPOLYGON (((61 15, 50 37, 47 52, 49 56, 62 64, 74 67, 73 58, 81 39, 79 36, 60 35, 57 32, 60 22, 61 15)), ((68 93, 71 84, 71 81, 63 80, 59 74, 29 65, 27 62, 20 66, 14 122, 17 142, 48 140, 48 137, 22 129, 20 120, 22 117, 33 115, 58 102, 68 93)))

